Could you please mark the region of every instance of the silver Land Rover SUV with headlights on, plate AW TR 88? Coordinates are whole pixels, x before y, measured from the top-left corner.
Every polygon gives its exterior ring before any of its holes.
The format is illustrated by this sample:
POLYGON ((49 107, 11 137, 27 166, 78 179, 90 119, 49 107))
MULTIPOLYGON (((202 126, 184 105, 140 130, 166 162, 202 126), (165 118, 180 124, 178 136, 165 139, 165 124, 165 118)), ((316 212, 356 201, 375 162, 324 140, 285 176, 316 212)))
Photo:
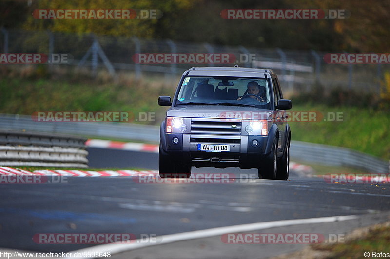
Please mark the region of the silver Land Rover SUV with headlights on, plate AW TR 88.
POLYGON ((279 81, 270 69, 202 67, 185 71, 160 128, 159 174, 191 176, 191 167, 257 168, 287 180, 290 127, 279 81))

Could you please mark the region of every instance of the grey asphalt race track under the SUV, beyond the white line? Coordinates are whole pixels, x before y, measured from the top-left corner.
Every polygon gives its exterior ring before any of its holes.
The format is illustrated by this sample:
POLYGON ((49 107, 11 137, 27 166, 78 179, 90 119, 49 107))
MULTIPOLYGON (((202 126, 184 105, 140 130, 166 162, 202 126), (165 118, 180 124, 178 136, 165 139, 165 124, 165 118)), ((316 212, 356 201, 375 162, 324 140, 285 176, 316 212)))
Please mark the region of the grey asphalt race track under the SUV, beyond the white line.
MULTIPOLYGON (((158 155, 89 148, 91 167, 157 169, 158 155)), ((256 170, 227 172, 239 178, 256 170)), ((291 172, 289 181, 144 184, 126 177, 69 177, 58 184, 0 186, 0 247, 65 252, 88 245, 37 244, 37 233, 166 235, 229 225, 389 210, 389 185, 330 184, 291 172)), ((374 223, 374 222, 372 222, 374 223)))

